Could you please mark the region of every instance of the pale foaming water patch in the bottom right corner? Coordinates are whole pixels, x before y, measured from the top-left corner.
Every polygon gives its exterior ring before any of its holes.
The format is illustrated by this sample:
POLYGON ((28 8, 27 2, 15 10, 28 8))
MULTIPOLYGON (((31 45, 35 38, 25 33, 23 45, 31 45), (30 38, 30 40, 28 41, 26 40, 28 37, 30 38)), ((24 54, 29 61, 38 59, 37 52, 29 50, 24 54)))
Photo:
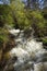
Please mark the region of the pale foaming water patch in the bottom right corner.
POLYGON ((34 71, 47 71, 47 62, 34 64, 34 71))

